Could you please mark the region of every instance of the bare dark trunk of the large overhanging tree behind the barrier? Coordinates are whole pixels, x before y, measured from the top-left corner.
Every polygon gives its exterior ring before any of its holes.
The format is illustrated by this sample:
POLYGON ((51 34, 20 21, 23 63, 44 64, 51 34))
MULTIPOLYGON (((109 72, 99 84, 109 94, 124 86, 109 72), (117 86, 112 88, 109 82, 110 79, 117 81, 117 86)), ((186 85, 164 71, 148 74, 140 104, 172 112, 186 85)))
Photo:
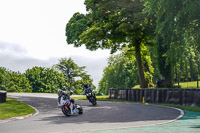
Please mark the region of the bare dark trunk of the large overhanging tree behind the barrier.
POLYGON ((140 49, 139 41, 137 41, 135 44, 135 57, 136 57, 136 63, 137 63, 137 68, 138 68, 140 87, 147 88, 147 83, 145 82, 145 76, 144 76, 144 69, 143 69, 143 65, 142 65, 141 49, 140 49))

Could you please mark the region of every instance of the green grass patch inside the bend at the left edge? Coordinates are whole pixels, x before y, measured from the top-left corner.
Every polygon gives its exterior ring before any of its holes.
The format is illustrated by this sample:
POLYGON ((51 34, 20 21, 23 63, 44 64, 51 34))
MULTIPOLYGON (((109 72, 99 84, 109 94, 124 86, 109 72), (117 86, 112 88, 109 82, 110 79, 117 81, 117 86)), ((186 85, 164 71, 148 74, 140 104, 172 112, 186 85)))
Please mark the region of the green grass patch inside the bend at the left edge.
POLYGON ((7 98, 5 103, 0 103, 0 120, 32 113, 35 113, 33 108, 13 99, 7 98))

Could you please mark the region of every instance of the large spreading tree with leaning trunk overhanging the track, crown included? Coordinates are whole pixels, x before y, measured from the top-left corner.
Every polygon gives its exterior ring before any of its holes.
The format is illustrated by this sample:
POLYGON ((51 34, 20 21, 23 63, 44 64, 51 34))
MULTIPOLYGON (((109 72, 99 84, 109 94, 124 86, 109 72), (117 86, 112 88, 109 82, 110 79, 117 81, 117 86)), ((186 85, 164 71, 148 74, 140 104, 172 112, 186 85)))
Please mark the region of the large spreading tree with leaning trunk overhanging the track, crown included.
POLYGON ((151 40, 152 22, 142 13, 140 0, 85 0, 88 13, 75 13, 66 26, 67 43, 89 50, 135 48, 139 81, 145 82, 141 45, 151 40), (73 36, 73 37, 72 37, 73 36))

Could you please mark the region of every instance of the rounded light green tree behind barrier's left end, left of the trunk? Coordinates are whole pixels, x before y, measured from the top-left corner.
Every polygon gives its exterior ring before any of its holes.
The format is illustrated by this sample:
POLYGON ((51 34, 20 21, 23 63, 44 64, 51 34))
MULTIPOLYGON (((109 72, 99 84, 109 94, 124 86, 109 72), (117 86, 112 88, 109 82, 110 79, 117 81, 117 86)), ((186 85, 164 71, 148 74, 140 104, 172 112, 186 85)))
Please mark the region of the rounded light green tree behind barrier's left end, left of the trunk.
POLYGON ((126 89, 139 84, 136 61, 128 58, 125 51, 110 56, 108 66, 103 72, 99 82, 99 93, 108 94, 110 88, 126 89))

